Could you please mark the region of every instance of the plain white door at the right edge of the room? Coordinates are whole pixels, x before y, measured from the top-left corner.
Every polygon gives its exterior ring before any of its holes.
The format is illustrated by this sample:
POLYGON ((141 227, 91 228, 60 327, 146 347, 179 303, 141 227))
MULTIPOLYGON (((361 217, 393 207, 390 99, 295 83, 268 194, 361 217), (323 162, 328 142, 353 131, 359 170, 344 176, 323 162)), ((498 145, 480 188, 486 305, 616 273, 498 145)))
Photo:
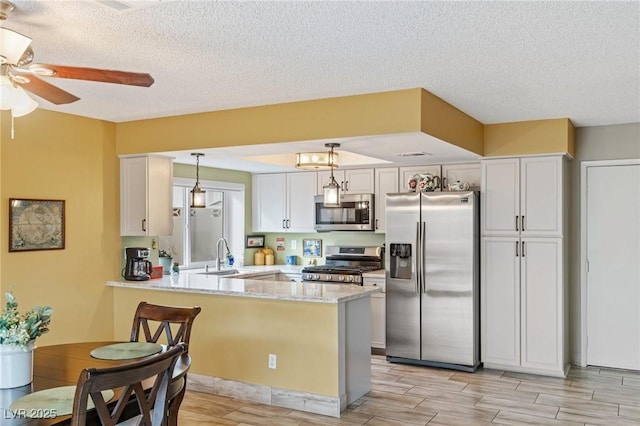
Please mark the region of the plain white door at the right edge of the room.
POLYGON ((640 370, 640 164, 587 167, 586 185, 586 361, 640 370))

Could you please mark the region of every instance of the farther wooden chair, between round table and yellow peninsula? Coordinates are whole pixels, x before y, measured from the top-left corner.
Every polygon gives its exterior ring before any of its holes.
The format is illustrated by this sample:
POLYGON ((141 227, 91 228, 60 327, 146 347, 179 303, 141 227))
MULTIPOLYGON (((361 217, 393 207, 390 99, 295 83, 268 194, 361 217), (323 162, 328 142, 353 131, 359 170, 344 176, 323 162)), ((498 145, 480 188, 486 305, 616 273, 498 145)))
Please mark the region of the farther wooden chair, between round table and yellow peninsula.
MULTIPOLYGON (((188 351, 191 327, 200 311, 201 308, 199 306, 189 308, 140 302, 133 318, 130 340, 138 342, 141 331, 147 342, 157 343, 160 337, 164 335, 168 345, 176 345, 182 342, 187 345, 188 351), (176 328, 177 330, 175 330, 176 328), (155 329, 153 333, 151 332, 152 329, 155 329)), ((184 375, 171 383, 168 412, 170 426, 178 424, 178 410, 187 390, 186 380, 186 375, 184 375)))

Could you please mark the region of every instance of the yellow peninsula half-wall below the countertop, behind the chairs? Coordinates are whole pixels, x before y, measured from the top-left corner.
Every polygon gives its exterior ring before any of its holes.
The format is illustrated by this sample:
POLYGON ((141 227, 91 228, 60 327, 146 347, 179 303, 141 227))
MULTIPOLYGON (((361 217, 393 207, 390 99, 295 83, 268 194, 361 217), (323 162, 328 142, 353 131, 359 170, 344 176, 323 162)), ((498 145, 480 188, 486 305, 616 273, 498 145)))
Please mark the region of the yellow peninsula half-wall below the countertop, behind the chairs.
POLYGON ((339 396, 337 304, 114 288, 116 339, 129 340, 141 300, 202 308, 189 344, 192 373, 339 396))

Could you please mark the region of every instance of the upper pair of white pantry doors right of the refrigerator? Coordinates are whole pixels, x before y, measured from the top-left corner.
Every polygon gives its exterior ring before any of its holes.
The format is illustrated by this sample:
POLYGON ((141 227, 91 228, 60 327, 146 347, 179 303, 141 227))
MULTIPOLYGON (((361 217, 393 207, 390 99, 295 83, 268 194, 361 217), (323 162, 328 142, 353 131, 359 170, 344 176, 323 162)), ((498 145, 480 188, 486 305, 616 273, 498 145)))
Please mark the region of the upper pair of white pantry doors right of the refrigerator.
POLYGON ((484 235, 562 236, 562 157, 482 162, 484 235))

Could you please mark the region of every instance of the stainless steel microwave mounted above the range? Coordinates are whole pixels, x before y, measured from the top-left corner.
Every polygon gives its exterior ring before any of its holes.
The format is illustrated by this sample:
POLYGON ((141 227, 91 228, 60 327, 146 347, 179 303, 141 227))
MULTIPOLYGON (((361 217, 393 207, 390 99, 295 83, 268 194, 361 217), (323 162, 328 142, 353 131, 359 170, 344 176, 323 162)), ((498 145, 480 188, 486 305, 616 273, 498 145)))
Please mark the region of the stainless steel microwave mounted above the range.
POLYGON ((316 231, 374 230, 373 194, 344 194, 339 207, 325 207, 322 201, 322 195, 314 197, 316 231))

